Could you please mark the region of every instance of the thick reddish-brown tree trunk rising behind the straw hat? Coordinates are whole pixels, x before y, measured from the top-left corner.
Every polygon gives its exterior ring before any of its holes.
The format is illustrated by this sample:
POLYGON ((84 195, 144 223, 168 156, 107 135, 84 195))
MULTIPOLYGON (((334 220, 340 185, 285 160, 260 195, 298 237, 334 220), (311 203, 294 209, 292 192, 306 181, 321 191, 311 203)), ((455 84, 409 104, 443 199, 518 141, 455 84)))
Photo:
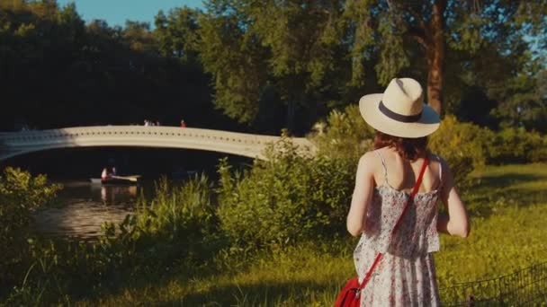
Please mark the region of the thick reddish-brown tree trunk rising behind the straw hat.
POLYGON ((435 0, 429 25, 431 40, 427 48, 427 103, 438 114, 441 114, 443 105, 445 10, 446 0, 435 0))

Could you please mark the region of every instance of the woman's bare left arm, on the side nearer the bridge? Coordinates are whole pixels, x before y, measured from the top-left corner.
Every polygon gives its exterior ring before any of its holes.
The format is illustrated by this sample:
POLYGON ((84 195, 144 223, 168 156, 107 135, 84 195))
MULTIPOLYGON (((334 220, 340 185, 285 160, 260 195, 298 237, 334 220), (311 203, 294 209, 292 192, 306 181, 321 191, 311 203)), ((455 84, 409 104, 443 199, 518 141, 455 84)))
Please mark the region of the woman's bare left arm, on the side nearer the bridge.
POLYGON ((361 234, 365 227, 365 214, 371 201, 372 188, 374 187, 373 158, 372 152, 365 153, 359 159, 359 165, 357 166, 354 196, 352 197, 352 204, 349 208, 346 221, 347 231, 353 236, 361 234))

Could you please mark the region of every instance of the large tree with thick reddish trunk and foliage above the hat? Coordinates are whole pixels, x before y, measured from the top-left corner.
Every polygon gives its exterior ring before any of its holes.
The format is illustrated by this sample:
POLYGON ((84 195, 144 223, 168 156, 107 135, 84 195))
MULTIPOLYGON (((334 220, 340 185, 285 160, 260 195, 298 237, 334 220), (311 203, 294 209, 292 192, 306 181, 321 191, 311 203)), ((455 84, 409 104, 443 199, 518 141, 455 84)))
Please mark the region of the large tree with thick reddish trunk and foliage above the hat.
POLYGON ((515 58, 524 46, 529 48, 525 34, 544 35, 546 10, 547 4, 540 0, 348 0, 346 16, 355 29, 354 70, 363 71, 361 61, 370 57, 371 50, 380 54, 375 69, 383 84, 404 68, 421 64, 428 104, 441 113, 447 59, 457 62, 459 69, 452 73, 458 75, 471 68, 493 80, 512 77, 519 64, 515 58), (500 69, 476 65, 484 63, 485 56, 514 60, 500 69), (420 63, 419 57, 425 61, 420 63))

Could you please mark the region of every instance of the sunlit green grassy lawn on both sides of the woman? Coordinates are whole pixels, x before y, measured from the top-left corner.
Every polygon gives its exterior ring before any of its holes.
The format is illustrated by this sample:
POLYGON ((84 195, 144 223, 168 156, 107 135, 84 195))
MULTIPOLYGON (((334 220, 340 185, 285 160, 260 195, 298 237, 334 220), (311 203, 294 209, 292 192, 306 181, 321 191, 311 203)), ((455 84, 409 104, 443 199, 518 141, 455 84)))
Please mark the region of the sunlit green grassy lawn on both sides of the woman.
MULTIPOLYGON (((547 164, 489 166, 477 180, 464 195, 471 236, 442 236, 435 254, 441 287, 547 260, 547 164)), ((354 275, 355 242, 309 243, 262 256, 251 252, 247 259, 220 255, 219 264, 193 273, 172 268, 76 305, 329 306, 354 275)))

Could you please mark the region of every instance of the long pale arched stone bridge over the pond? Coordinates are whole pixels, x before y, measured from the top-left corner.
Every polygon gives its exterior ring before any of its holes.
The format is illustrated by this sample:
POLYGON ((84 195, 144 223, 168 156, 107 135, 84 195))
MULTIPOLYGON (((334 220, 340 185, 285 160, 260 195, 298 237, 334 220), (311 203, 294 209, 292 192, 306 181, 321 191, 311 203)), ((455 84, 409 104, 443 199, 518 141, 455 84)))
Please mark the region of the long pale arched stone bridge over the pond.
MULTIPOLYGON (((191 127, 67 127, 0 133, 0 161, 24 153, 93 146, 185 148, 265 159, 265 146, 280 139, 280 136, 261 136, 191 127)), ((304 137, 294 137, 291 140, 299 148, 309 149, 312 152, 315 150, 315 145, 304 137)))

